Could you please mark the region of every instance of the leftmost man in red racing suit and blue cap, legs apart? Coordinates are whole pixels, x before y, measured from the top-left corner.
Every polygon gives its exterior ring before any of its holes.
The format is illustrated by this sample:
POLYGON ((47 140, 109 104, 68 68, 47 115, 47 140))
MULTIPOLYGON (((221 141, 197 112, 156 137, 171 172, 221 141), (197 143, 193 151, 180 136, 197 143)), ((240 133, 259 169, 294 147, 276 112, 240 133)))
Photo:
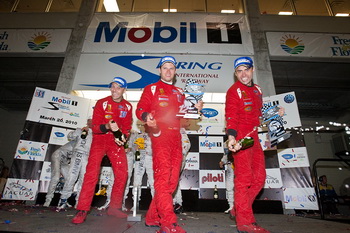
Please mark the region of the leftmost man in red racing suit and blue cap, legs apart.
POLYGON ((84 182, 80 192, 77 210, 72 223, 80 224, 85 221, 87 211, 90 210, 95 186, 100 174, 102 158, 107 154, 115 176, 108 215, 126 218, 127 215, 120 209, 128 176, 128 168, 124 143, 129 136, 132 124, 132 105, 123 98, 126 90, 126 81, 116 77, 110 83, 111 96, 96 102, 92 117, 93 140, 90 156, 86 167, 84 182), (118 140, 113 132, 120 130, 123 139, 118 140))

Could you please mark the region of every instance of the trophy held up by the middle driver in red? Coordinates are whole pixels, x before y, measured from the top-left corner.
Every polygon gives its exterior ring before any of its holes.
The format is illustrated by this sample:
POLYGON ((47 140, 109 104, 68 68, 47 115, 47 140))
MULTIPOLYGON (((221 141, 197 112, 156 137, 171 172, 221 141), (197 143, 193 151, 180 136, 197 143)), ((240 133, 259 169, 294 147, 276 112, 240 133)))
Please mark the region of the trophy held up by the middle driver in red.
POLYGON ((190 119, 199 119, 200 114, 195 105, 203 98, 204 85, 199 84, 194 79, 187 79, 185 86, 185 101, 180 107, 180 111, 177 116, 190 119))

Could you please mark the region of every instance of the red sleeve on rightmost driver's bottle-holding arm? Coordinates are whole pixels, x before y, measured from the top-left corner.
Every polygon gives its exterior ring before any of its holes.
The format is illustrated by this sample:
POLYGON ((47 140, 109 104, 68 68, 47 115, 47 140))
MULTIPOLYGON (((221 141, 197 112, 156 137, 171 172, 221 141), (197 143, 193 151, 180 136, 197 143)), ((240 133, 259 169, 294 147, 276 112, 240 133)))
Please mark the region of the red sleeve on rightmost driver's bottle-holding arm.
POLYGON ((237 136, 237 124, 239 122, 239 101, 235 88, 230 88, 226 94, 225 118, 228 135, 237 136))

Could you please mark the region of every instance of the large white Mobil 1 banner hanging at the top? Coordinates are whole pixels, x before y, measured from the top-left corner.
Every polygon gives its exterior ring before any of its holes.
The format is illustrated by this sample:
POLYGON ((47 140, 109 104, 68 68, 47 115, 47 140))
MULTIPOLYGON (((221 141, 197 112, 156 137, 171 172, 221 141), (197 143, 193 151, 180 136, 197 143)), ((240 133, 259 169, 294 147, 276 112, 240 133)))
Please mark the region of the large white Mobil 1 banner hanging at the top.
POLYGON ((252 55, 244 15, 97 14, 83 53, 186 53, 252 55), (142 26, 140 26, 142 25, 142 26))

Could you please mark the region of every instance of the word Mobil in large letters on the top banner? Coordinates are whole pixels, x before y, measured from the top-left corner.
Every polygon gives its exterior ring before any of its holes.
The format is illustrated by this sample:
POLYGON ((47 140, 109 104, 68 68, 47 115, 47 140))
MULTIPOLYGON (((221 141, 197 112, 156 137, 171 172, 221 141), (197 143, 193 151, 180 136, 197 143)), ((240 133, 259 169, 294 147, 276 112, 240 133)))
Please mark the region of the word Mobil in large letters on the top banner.
POLYGON ((128 41, 133 43, 170 43, 179 38, 180 43, 197 43, 196 22, 180 22, 178 28, 172 26, 162 26, 161 22, 154 22, 151 27, 133 27, 129 22, 119 22, 111 27, 109 22, 100 22, 96 28, 94 43, 128 41), (187 41, 189 38, 189 41, 187 41))

